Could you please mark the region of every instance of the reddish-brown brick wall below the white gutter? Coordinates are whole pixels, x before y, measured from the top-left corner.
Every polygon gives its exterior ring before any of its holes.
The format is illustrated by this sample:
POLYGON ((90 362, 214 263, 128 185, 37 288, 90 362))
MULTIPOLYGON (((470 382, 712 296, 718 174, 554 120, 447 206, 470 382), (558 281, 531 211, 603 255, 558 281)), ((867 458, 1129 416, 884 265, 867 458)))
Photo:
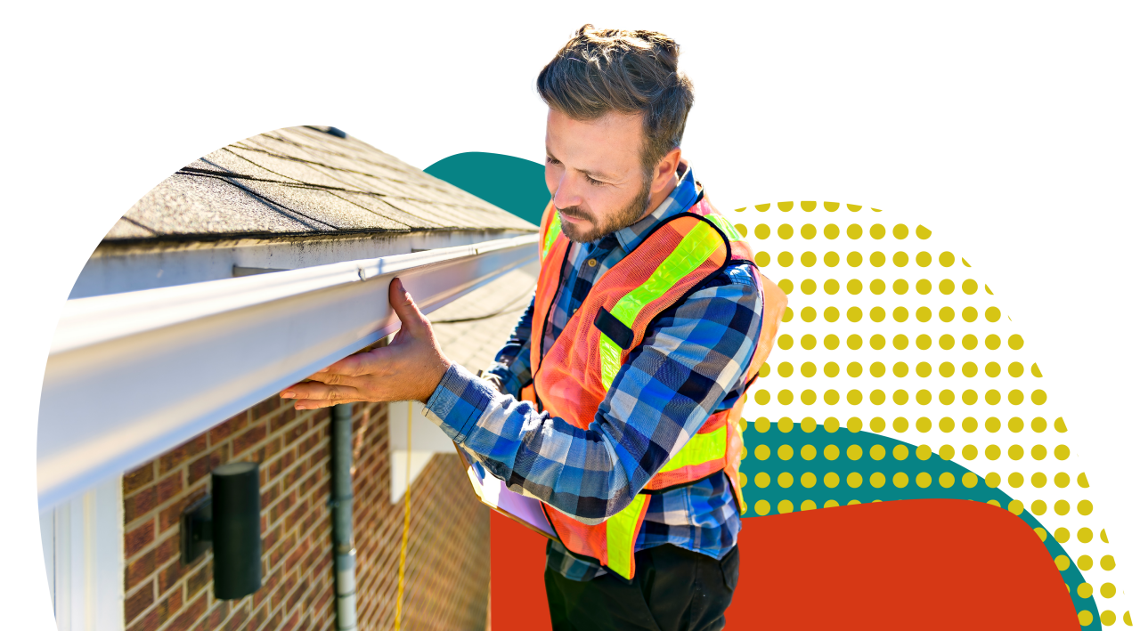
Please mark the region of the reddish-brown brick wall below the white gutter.
MULTIPOLYGON (((353 427, 360 629, 391 629, 404 505, 389 501, 386 405, 357 404, 353 427)), ((328 489, 328 411, 276 396, 127 473, 127 630, 334 629, 328 489), (220 601, 211 552, 182 566, 179 524, 210 470, 236 460, 261 462, 262 588, 220 601)), ((404 628, 483 629, 488 532, 458 457, 437 456, 413 485, 404 628)))

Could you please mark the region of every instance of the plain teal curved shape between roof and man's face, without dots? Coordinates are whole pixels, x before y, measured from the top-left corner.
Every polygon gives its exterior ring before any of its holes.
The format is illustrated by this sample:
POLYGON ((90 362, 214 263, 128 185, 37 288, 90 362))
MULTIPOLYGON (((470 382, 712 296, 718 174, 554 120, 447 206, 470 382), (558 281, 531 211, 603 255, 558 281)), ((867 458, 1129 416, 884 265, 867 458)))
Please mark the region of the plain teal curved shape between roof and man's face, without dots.
POLYGON ((546 167, 503 154, 467 151, 435 162, 424 172, 538 226, 551 200, 546 167))

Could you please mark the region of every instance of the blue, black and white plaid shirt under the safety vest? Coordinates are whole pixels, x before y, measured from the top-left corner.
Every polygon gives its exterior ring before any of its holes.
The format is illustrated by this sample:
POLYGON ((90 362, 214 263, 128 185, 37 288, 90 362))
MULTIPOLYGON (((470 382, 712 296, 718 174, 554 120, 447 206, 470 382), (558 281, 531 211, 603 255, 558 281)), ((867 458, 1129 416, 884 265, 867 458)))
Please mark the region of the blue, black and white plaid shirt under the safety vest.
MULTIPOLYGON (((695 203, 692 170, 678 175, 674 191, 649 216, 597 241, 571 245, 544 350, 605 270, 654 226, 695 203)), ((667 309, 630 351, 588 429, 519 400, 531 382, 531 301, 489 371, 502 391, 453 364, 427 401, 427 417, 512 491, 584 523, 601 523, 633 501, 709 415, 744 395, 744 372, 760 330, 759 287, 752 265, 730 265, 667 309)), ((671 543, 719 559, 736 544, 740 526, 732 487, 720 473, 651 494, 635 550, 671 543)), ((557 542, 547 566, 578 581, 605 572, 557 542)))

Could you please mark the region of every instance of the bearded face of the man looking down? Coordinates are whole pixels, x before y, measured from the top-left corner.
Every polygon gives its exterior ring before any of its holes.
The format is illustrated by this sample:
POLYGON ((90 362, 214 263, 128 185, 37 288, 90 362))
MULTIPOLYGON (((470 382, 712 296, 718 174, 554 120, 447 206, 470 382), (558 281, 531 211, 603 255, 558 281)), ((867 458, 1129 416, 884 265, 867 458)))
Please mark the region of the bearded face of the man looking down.
POLYGON ((597 240, 641 219, 650 181, 641 165, 642 116, 611 112, 575 121, 556 109, 546 117, 546 188, 562 216, 562 233, 597 240))

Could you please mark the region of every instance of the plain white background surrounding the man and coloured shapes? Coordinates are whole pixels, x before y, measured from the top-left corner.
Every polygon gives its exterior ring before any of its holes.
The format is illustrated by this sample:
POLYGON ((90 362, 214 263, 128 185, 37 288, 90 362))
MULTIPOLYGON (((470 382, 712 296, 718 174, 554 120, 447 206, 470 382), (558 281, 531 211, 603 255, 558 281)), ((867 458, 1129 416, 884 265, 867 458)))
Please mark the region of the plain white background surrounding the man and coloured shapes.
POLYGON ((534 80, 585 22, 681 42, 697 88, 683 149, 722 210, 855 203, 961 244, 1036 341, 1072 444, 1101 462, 1117 571, 1135 575, 1137 5, 410 5, 0 14, 6 626, 52 628, 40 385, 63 301, 115 219, 194 158, 286 125, 336 125, 421 167, 471 150, 539 161, 534 80))

